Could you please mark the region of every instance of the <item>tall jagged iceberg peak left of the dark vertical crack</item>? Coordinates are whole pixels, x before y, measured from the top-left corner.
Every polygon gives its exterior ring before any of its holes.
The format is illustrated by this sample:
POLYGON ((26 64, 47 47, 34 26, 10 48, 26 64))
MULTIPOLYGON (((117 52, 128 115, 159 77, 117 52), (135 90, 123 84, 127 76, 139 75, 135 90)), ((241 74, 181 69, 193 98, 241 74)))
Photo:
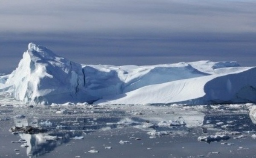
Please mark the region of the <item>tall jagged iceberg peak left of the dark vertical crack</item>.
POLYGON ((82 82, 84 74, 80 64, 34 43, 29 43, 18 67, 7 80, 13 85, 15 99, 39 104, 79 100, 82 82))

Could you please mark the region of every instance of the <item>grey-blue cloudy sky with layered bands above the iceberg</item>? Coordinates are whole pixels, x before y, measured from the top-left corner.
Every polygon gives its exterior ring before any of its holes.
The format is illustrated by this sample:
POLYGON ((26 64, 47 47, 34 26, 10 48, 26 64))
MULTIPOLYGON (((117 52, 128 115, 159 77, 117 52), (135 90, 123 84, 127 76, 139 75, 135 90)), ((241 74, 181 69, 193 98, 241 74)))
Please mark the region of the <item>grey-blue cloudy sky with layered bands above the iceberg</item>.
POLYGON ((0 72, 29 42, 84 64, 151 65, 256 57, 249 0, 0 0, 0 72))

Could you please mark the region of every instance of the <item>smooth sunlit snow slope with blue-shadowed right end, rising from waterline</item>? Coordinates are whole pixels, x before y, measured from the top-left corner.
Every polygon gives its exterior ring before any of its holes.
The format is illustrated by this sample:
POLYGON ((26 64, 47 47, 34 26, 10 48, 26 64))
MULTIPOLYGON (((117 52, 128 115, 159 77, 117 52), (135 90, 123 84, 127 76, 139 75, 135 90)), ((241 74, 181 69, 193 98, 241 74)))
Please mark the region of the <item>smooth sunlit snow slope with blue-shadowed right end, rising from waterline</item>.
POLYGON ((148 85, 96 104, 216 104, 256 101, 256 68, 148 85), (252 76, 253 74, 253 76, 252 76))

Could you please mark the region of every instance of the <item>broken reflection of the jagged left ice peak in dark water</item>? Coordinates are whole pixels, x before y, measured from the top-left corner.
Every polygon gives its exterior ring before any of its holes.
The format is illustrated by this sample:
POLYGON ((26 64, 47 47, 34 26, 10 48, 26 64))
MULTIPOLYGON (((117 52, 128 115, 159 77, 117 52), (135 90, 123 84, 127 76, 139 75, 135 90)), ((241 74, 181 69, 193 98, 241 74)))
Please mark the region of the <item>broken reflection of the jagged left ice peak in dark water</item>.
MULTIPOLYGON (((14 118, 16 127, 32 126, 38 127, 37 120, 28 120, 26 118, 18 119, 14 118)), ((39 155, 44 155, 61 144, 70 141, 70 138, 81 136, 82 132, 70 132, 70 131, 50 131, 47 133, 27 134, 19 133, 21 139, 23 139, 23 147, 26 147, 26 153, 29 158, 35 158, 39 155)))

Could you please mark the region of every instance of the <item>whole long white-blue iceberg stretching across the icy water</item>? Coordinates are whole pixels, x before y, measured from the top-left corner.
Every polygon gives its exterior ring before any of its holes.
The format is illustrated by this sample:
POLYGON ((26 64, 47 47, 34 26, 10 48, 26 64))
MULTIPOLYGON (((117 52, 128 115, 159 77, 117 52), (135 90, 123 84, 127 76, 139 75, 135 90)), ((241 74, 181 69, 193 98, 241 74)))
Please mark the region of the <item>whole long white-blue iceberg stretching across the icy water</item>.
POLYGON ((237 62, 83 65, 29 43, 0 76, 0 99, 23 104, 229 104, 256 102, 256 67, 237 62))

